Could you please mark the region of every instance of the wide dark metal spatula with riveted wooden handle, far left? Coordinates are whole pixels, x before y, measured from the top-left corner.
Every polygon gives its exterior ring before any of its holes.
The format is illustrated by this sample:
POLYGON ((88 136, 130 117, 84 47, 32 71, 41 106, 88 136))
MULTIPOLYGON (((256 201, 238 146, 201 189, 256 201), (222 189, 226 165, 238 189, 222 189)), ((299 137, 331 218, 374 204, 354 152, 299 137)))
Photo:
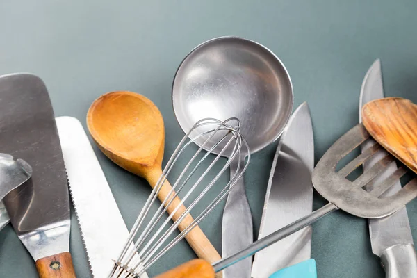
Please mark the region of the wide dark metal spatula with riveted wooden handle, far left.
POLYGON ((75 277, 67 175, 43 81, 32 74, 1 76, 0 111, 1 151, 33 168, 32 178, 3 199, 10 222, 40 278, 75 277))

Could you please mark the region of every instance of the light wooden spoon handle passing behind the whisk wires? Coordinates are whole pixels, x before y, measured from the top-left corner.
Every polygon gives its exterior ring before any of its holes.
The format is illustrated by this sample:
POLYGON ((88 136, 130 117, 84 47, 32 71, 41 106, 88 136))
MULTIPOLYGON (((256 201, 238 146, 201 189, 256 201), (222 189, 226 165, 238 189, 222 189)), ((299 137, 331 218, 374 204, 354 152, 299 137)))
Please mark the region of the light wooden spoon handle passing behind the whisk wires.
MULTIPOLYGON (((159 177, 161 177, 162 171, 161 170, 154 170, 152 172, 149 172, 149 175, 147 176, 147 180, 149 181, 152 188, 156 185, 158 182, 159 177)), ((161 190, 159 191, 158 198, 163 202, 170 193, 170 190, 172 189, 170 183, 166 180, 163 184, 161 190)), ((179 205, 181 202, 181 199, 179 197, 175 197, 170 206, 167 208, 168 213, 172 213, 174 209, 179 205)), ((168 202, 166 202, 167 204, 168 202)), ((186 207, 181 205, 178 211, 172 216, 172 219, 175 221, 177 220, 181 214, 186 211, 186 207)), ((183 229, 186 229, 191 222, 193 222, 193 216, 188 214, 186 218, 184 218, 181 223, 178 226, 178 229, 180 231, 183 231, 183 229)), ((195 226, 191 231, 188 232, 186 235, 186 240, 190 244, 190 247, 193 248, 195 254, 201 259, 204 259, 208 261, 208 263, 214 263, 215 261, 219 261, 222 259, 220 254, 215 250, 214 246, 211 245, 210 241, 206 237, 206 235, 203 233, 202 229, 200 229, 197 226, 195 226)), ((216 275, 216 277, 221 277, 221 272, 216 275)))

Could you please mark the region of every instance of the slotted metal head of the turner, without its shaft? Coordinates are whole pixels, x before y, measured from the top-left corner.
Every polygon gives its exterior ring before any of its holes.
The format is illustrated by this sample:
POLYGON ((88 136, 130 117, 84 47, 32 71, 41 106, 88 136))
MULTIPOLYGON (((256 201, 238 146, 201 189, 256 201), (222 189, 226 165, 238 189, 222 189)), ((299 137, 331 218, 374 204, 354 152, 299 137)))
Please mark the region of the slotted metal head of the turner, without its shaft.
POLYGON ((402 167, 393 174, 387 173, 386 168, 391 163, 395 163, 395 157, 368 138, 370 138, 369 133, 363 124, 358 124, 347 131, 329 148, 316 165, 313 171, 313 185, 318 193, 343 211, 362 218, 380 218, 398 211, 417 196, 417 179, 407 183, 407 186, 394 195, 380 197, 409 169, 402 167), (354 154, 358 146, 366 147, 366 145, 372 146, 359 156, 352 158, 351 153, 354 154), (340 171, 336 172, 336 166, 347 155, 352 158, 352 161, 348 161, 340 171), (370 161, 375 164, 368 163, 370 161), (364 162, 367 162, 369 167, 366 167, 363 174, 357 179, 348 180, 351 173, 361 170, 360 166, 364 162), (382 176, 383 173, 384 176, 382 176), (370 186, 373 187, 372 192, 365 190, 370 186))

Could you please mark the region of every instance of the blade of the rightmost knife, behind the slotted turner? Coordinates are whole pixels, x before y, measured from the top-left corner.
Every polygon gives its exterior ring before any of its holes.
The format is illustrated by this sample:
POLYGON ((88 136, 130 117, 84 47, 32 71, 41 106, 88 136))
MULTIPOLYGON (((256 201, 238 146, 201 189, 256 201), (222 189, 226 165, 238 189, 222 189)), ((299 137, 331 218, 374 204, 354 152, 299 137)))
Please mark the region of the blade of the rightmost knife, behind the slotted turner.
MULTIPOLYGON (((381 61, 375 60, 373 65, 366 73, 365 79, 363 79, 361 96, 359 100, 359 122, 361 122, 361 108, 368 101, 374 99, 381 99, 384 97, 384 85, 382 81, 381 61)), ((375 144, 375 141, 366 142, 363 145, 363 150, 375 144)), ((363 165, 364 170, 374 165, 377 161, 383 158, 386 153, 381 153, 373 156, 368 163, 363 165)), ((397 169, 395 161, 387 167, 385 172, 379 175, 377 179, 382 181, 389 177, 397 169)), ((370 188, 367 188, 370 190, 370 188)), ((398 192, 401 189, 401 183, 398 181, 389 190, 386 191, 384 196, 390 196, 398 192)), ((369 220, 369 232, 370 242, 372 245, 373 253, 377 256, 381 256, 382 252, 386 248, 400 243, 413 243, 413 236, 411 235, 411 229, 409 224, 409 218, 407 215, 407 209, 404 207, 402 210, 395 214, 378 219, 369 220)))

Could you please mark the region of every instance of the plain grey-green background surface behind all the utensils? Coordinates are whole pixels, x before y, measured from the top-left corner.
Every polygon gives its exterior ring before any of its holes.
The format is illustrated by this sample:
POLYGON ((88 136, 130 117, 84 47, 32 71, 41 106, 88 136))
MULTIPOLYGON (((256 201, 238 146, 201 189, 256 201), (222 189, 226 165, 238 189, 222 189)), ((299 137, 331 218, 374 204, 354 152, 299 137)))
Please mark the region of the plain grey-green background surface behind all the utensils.
MULTIPOLYGON (((183 136, 172 111, 172 78, 197 44, 221 35, 250 38, 281 58, 291 75, 295 107, 307 101, 316 162, 357 124, 359 90, 382 59, 387 96, 417 102, 417 1, 108 1, 1 0, 0 74, 32 72, 47 84, 57 116, 79 118, 112 90, 149 97, 165 120, 165 159, 183 136)), ((252 157, 245 174, 258 234, 276 143, 252 157)), ((117 204, 131 227, 149 186, 95 149, 117 204)), ((316 195, 314 208, 325 204, 316 195)), ((417 202, 407 205, 417 238, 417 202)), ((218 210, 201 226, 221 250, 218 210)), ((103 243, 106 244, 106 243, 103 243)), ((195 255, 186 243, 149 274, 195 255)), ((72 212, 71 250, 78 277, 88 276, 72 212)), ((318 277, 384 277, 370 250, 367 221, 342 212, 313 225, 318 277)), ((35 265, 10 225, 0 232, 0 277, 36 277, 35 265)))

